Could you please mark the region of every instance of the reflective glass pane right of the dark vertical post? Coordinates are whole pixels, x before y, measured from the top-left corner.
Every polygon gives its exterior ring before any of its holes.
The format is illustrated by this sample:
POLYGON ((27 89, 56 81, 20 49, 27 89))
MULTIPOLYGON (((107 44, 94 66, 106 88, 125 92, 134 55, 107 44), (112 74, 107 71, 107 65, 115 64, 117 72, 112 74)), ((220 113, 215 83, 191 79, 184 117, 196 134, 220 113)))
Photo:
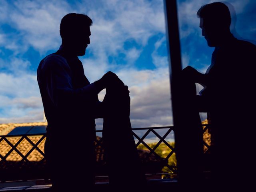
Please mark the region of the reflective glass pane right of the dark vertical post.
MULTIPOLYGON (((203 126, 204 170, 211 170, 214 167, 215 172, 232 178, 234 166, 231 165, 234 158, 231 160, 231 157, 235 156, 235 150, 238 149, 232 149, 228 145, 237 144, 239 140, 238 146, 241 149, 250 146, 246 143, 250 140, 249 135, 242 128, 248 127, 245 123, 248 114, 252 111, 248 110, 248 106, 254 102, 254 98, 253 100, 247 98, 251 94, 245 90, 253 89, 255 82, 254 77, 252 78, 254 75, 248 75, 250 70, 254 71, 255 65, 250 64, 255 59, 248 58, 255 57, 255 51, 252 51, 253 47, 255 50, 255 46, 252 44, 256 44, 256 12, 254 11, 256 2, 226 0, 223 3, 227 7, 223 4, 216 7, 217 5, 214 4, 216 5, 212 7, 214 10, 211 10, 209 6, 206 10, 206 5, 205 11, 201 10, 201 12, 198 12, 201 6, 213 3, 213 1, 177 0, 177 2, 182 68, 191 66, 203 74, 205 79, 200 75, 194 75, 196 72, 193 71, 193 73, 191 68, 186 68, 186 70, 190 69, 191 81, 193 77, 196 77, 197 79, 194 78, 193 82, 197 81, 205 85, 204 92, 201 92, 203 86, 197 84, 197 94, 201 97, 198 96, 196 101, 201 101, 203 103, 201 106, 206 107, 204 113, 201 113, 202 124, 211 124, 209 120, 212 120, 212 126, 203 126), (221 10, 224 10, 224 14, 221 10), (229 16, 225 14, 227 10, 230 11, 231 24, 229 16), (201 14, 200 18, 197 12, 201 14), (232 123, 229 124, 231 118, 232 123), (215 150, 211 150, 213 148, 215 150), (212 159, 216 156, 218 156, 218 162, 212 163, 212 159), (225 172, 226 170, 229 172, 225 172)), ((200 102, 196 104, 199 106, 200 102)), ((247 150, 250 153, 253 147, 247 150)), ((240 164, 247 164, 250 157, 243 160, 244 162, 240 164)), ((248 164, 249 166, 251 164, 248 164)), ((246 171, 240 173, 240 175, 246 174, 246 171)))

